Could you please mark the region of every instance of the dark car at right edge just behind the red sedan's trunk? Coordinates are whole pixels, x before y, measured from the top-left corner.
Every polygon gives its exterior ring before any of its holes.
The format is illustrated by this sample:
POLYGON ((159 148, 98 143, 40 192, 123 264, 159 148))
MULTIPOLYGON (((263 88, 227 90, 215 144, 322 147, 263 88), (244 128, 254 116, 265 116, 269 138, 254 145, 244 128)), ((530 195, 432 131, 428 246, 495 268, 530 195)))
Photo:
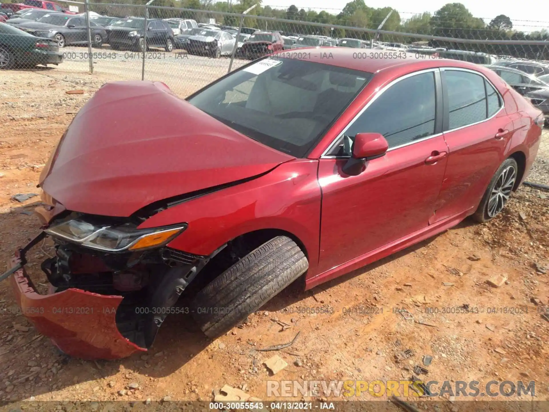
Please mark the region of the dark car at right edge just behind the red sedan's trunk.
POLYGON ((522 70, 512 69, 508 66, 491 65, 486 66, 492 69, 507 84, 522 94, 526 99, 540 109, 545 116, 545 124, 549 126, 549 84, 522 70))

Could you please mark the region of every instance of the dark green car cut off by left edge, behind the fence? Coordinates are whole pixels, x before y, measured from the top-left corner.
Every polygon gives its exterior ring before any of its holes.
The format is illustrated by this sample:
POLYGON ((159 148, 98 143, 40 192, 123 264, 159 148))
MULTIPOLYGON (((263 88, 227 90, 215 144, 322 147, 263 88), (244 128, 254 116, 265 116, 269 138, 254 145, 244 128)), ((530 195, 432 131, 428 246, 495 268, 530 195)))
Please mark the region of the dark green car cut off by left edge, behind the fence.
POLYGON ((57 42, 38 38, 14 26, 0 23, 0 69, 63 62, 57 42))

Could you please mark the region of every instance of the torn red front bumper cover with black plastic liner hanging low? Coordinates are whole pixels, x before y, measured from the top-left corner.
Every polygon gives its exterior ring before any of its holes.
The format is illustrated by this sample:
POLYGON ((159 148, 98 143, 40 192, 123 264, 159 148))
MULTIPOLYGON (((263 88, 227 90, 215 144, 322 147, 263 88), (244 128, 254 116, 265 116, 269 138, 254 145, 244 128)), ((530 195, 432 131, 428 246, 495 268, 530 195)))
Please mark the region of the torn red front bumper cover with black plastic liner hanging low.
POLYGON ((43 237, 16 252, 2 276, 12 272, 15 299, 36 330, 65 354, 82 359, 118 359, 145 352, 166 316, 173 313, 170 309, 181 292, 209 260, 196 256, 192 263, 176 264, 166 258, 166 250, 150 252, 141 259, 153 261, 149 266, 158 279, 149 282, 150 268, 142 264, 128 269, 121 263, 124 255, 117 255, 115 263, 107 261, 120 265, 112 270, 100 254, 79 253, 76 246, 58 244, 56 256, 42 263, 52 285, 50 293, 39 294, 24 265, 25 252, 43 237))

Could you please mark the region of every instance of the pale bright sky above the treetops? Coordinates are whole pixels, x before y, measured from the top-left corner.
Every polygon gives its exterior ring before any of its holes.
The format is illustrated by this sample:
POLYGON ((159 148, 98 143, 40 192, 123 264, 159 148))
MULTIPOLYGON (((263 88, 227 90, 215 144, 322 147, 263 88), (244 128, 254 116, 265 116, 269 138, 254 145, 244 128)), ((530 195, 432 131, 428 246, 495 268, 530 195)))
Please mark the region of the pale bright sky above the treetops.
MULTIPOLYGON (((326 10, 337 14, 349 0, 262 0, 262 5, 273 8, 288 8, 295 4, 299 9, 326 10)), ((549 1, 547 0, 365 0, 369 7, 392 7, 400 13, 402 19, 422 12, 434 13, 446 3, 460 2, 469 9, 473 16, 485 19, 489 23, 498 14, 505 14, 513 21, 513 29, 534 31, 549 29, 549 1)))

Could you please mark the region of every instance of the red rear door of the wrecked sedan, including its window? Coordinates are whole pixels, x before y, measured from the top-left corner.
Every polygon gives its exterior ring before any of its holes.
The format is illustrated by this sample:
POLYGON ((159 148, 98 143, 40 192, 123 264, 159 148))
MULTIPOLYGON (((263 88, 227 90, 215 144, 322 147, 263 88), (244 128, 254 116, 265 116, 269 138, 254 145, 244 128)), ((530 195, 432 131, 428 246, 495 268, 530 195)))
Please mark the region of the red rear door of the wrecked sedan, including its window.
POLYGON ((486 77, 459 68, 443 68, 441 75, 450 154, 432 222, 478 207, 513 133, 502 97, 486 77))

